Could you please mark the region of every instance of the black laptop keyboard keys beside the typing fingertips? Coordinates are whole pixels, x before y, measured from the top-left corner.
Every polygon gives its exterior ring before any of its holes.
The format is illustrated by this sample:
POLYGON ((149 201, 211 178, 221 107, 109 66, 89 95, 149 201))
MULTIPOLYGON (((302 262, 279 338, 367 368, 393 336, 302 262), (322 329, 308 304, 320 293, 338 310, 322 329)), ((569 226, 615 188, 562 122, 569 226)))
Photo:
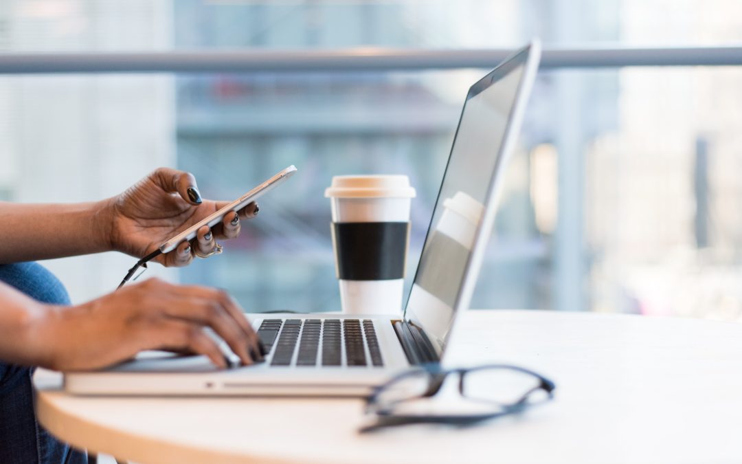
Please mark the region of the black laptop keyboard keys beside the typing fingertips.
POLYGON ((273 353, 272 366, 384 365, 368 319, 265 319, 257 336, 273 353))

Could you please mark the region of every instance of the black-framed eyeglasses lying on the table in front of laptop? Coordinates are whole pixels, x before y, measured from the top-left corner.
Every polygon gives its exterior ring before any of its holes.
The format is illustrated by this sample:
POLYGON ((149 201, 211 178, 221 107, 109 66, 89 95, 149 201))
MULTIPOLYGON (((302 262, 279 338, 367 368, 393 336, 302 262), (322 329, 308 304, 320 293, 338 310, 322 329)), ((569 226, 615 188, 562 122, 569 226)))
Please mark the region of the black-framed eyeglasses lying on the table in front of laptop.
POLYGON ((554 388, 551 380, 512 365, 450 370, 425 365, 374 389, 366 412, 376 414, 377 422, 361 428, 361 433, 419 423, 473 425, 547 402, 554 397, 554 388), (454 386, 446 382, 453 376, 459 376, 458 394, 444 388, 454 386))

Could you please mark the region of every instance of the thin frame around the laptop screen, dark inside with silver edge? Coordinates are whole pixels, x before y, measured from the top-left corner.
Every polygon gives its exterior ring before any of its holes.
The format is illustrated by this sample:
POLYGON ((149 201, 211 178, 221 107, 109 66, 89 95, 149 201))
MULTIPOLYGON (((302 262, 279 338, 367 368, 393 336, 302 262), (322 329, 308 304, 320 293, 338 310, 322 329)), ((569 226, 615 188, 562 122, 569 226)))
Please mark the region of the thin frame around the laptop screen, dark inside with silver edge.
MULTIPOLYGON (((459 293, 456 295, 456 299, 454 300, 455 302, 452 308, 453 313, 450 321, 451 327, 445 334, 440 346, 436 339, 430 340, 440 357, 443 356, 448 340, 450 339, 450 333, 453 331, 453 324, 456 321, 456 317, 459 315, 459 311, 468 307, 471 301, 474 287, 476 285, 476 280, 479 275, 479 269, 484 258, 487 239, 492 233, 492 226, 494 223, 496 212, 496 200, 499 191, 501 190, 499 187, 502 184, 502 182, 499 181, 499 178, 502 177, 502 166, 504 165, 505 160, 507 160, 513 152, 513 146, 522 125, 523 114, 525 113, 525 105, 528 102, 528 96, 531 94, 533 81, 536 78, 536 71, 538 69, 540 57, 540 42, 534 39, 529 45, 520 50, 517 50, 515 53, 506 58, 500 65, 498 65, 496 68, 482 77, 482 79, 479 79, 477 82, 475 82, 469 88, 467 97, 466 99, 464 99, 464 105, 462 107, 462 112, 459 115, 459 123, 458 125, 456 125, 456 132, 453 135, 453 141, 451 143, 446 168, 444 169, 443 178, 441 180, 441 186, 436 197, 436 203, 433 206, 433 213, 430 215, 430 223, 428 224, 427 232, 425 233, 423 249, 425 244, 427 244, 428 238, 430 238, 430 233, 433 231, 433 220, 435 218, 435 212, 438 208, 439 202, 441 201, 441 192, 443 191, 446 174, 450 167, 451 157, 453 155, 453 148, 456 147, 456 139, 457 137, 459 137, 459 129, 462 125, 464 111, 466 111, 467 103, 470 99, 476 97, 476 95, 481 94, 482 91, 485 91, 494 83, 499 82, 499 80, 507 76, 516 68, 520 66, 523 67, 523 73, 520 82, 518 83, 516 95, 513 99, 513 105, 510 108, 510 114, 508 114, 508 122, 506 122, 505 124, 505 133, 502 137, 502 143, 496 153, 497 158, 495 161, 495 166, 493 168, 493 176, 491 177, 490 183, 487 186, 487 195, 485 195, 485 213, 484 215, 482 215, 482 220, 476 230, 474 241, 471 247, 471 252, 469 254, 469 257, 467 258, 466 265, 464 266, 462 285, 459 288, 459 293)), ((418 267, 415 271, 415 277, 413 278, 413 284, 417 280, 419 272, 420 265, 418 263, 418 267)), ((409 309, 408 305, 410 303, 411 293, 412 289, 410 289, 410 293, 407 294, 407 302, 404 305, 403 318, 408 323, 414 324, 417 327, 421 327, 424 330, 424 327, 419 323, 419 321, 416 321, 414 318, 411 317, 413 315, 410 315, 407 312, 407 310, 409 309)), ((430 339, 430 336, 428 338, 430 339)))

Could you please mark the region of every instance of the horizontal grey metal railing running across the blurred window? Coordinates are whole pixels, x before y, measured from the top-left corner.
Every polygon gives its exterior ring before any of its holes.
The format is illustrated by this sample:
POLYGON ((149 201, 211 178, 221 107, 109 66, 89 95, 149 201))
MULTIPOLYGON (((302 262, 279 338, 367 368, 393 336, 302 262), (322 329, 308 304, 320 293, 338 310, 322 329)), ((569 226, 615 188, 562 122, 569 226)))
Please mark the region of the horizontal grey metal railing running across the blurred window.
MULTIPOLYGON (((7 53, 0 73, 416 71, 491 68, 512 50, 199 50, 146 53, 7 53)), ((541 68, 742 65, 742 46, 551 48, 541 68)))

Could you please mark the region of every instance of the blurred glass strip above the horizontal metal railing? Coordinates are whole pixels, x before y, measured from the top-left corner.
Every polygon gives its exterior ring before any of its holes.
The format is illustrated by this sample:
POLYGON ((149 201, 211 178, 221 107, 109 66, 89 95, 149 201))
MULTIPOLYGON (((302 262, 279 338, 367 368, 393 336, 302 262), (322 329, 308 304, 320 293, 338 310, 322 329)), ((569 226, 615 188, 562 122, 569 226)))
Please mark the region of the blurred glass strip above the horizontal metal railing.
POLYGON ((742 41, 742 4, 603 0, 5 0, 0 50, 515 48, 742 41))

